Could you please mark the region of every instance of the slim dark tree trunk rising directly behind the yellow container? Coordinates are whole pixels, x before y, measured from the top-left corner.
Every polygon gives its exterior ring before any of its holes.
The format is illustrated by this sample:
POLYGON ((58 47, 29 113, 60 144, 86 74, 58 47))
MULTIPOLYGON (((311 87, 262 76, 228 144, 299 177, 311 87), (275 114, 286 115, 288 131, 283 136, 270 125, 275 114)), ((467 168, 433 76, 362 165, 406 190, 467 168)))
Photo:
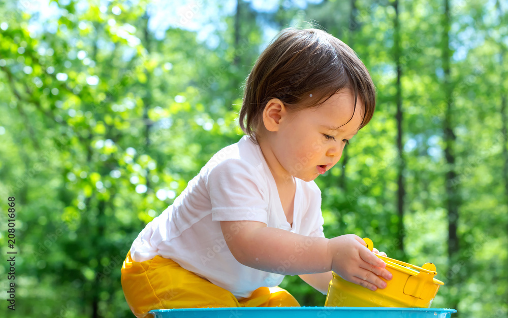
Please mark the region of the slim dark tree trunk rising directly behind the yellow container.
POLYGON ((397 178, 397 214, 398 214, 398 232, 397 239, 399 241, 399 251, 401 252, 401 258, 404 259, 404 168, 405 168, 405 160, 404 160, 404 150, 402 147, 402 86, 400 83, 400 79, 402 77, 402 65, 400 63, 400 24, 399 24, 399 1, 395 0, 393 2, 393 8, 395 9, 395 18, 393 21, 394 24, 394 58, 395 64, 397 66, 397 114, 395 118, 397 120, 397 151, 399 155, 398 162, 398 178, 397 178))

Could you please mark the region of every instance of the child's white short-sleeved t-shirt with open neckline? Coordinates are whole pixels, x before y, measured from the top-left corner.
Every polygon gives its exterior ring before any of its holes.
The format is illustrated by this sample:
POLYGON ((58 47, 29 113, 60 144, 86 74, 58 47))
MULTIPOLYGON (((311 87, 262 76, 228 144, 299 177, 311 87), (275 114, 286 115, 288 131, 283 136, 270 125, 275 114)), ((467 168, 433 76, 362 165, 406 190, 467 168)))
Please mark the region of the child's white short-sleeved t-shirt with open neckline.
MULTIPOLYGON (((218 221, 258 221, 324 237, 321 191, 313 181, 295 181, 291 226, 261 149, 244 136, 217 152, 173 204, 146 225, 131 246, 131 257, 137 262, 156 255, 172 259, 236 297, 249 297, 259 287, 278 286, 288 261, 273 269, 278 273, 242 265, 231 254, 218 221)), ((305 248, 295 245, 295 257, 305 248)))

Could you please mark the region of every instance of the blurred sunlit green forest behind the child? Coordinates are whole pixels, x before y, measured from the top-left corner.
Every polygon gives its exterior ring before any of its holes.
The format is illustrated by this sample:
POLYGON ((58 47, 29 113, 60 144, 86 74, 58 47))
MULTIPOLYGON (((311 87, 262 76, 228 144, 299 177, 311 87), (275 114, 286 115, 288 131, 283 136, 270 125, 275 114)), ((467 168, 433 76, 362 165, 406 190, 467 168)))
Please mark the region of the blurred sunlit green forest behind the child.
MULTIPOLYGON (((243 81, 271 38, 310 24, 378 89, 371 123, 316 180, 325 235, 435 263, 432 306, 453 316, 508 316, 506 0, 0 1, 0 315, 132 317, 132 241, 240 139, 243 81)), ((281 286, 324 305, 298 276, 281 286)))

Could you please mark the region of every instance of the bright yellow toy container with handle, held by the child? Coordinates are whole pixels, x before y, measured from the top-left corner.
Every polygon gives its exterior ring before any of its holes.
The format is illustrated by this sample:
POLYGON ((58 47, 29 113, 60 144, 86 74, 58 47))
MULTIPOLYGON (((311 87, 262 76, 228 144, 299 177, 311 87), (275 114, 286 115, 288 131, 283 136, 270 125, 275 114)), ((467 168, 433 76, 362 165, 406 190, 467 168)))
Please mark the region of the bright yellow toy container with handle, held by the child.
MULTIPOLYGON (((363 239, 372 251, 374 244, 369 238, 363 239)), ((392 273, 391 280, 385 280, 387 287, 375 292, 333 273, 328 286, 325 306, 338 307, 420 307, 429 308, 444 283, 434 278, 436 266, 425 263, 422 267, 404 263, 393 258, 376 254, 385 261, 392 273)))

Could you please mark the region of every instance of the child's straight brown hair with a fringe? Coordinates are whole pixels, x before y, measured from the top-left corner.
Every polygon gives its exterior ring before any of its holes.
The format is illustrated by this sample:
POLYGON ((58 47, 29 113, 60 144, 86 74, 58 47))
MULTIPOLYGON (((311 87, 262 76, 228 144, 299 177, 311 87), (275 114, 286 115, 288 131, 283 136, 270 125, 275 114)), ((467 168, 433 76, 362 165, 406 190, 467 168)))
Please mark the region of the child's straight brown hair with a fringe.
POLYGON ((261 53, 245 81, 240 127, 256 141, 270 99, 278 98, 298 111, 321 105, 342 88, 354 91, 355 111, 358 94, 365 104, 360 129, 372 119, 376 93, 356 53, 323 30, 284 29, 261 53))

